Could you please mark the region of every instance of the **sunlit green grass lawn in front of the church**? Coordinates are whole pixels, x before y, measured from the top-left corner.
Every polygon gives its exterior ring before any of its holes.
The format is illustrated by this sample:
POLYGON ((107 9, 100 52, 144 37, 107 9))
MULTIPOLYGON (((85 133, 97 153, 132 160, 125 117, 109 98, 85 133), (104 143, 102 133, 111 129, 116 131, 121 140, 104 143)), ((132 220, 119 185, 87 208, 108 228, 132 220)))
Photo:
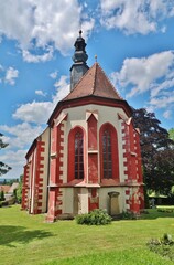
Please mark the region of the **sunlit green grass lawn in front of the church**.
POLYGON ((3 265, 172 265, 150 252, 146 242, 164 233, 174 239, 174 212, 149 210, 141 220, 105 226, 75 221, 45 223, 19 205, 0 208, 0 264, 3 265))

